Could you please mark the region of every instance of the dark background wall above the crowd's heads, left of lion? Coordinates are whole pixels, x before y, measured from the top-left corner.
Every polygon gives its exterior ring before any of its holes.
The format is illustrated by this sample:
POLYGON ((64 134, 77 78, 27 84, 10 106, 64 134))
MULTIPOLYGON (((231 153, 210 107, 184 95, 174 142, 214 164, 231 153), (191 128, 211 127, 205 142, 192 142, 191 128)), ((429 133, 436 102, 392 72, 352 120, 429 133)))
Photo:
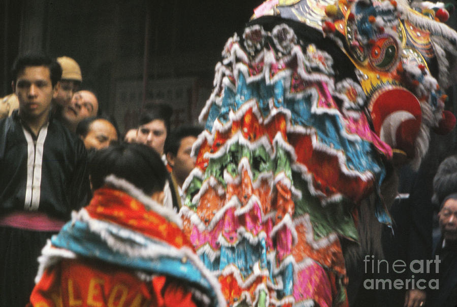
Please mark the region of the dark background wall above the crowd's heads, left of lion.
POLYGON ((242 35, 261 3, 0 0, 0 95, 11 92, 9 70, 17 54, 41 49, 51 56, 73 57, 81 66, 82 86, 96 92, 103 110, 115 115, 122 128, 134 124, 144 75, 147 101, 177 103, 177 124, 195 121, 225 41, 237 30, 242 35), (124 118, 128 112, 132 114, 124 118))

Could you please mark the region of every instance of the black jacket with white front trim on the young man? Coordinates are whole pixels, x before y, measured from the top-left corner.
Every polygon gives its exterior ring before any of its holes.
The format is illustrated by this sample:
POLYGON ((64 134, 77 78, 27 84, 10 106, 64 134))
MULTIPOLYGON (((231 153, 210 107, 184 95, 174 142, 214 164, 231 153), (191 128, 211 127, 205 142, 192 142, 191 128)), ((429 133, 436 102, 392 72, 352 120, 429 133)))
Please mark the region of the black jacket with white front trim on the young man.
POLYGON ((0 120, 0 215, 40 211, 69 219, 90 199, 84 144, 59 121, 34 135, 15 111, 0 120))

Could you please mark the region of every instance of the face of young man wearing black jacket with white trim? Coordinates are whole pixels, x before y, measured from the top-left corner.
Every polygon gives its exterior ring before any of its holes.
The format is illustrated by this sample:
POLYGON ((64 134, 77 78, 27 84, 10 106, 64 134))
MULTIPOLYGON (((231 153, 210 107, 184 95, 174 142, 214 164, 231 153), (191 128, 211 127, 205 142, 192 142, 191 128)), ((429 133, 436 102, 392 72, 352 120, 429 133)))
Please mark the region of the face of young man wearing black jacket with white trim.
POLYGON ((48 116, 58 86, 52 86, 48 67, 26 66, 13 82, 13 90, 19 100, 19 114, 23 118, 38 119, 48 116))

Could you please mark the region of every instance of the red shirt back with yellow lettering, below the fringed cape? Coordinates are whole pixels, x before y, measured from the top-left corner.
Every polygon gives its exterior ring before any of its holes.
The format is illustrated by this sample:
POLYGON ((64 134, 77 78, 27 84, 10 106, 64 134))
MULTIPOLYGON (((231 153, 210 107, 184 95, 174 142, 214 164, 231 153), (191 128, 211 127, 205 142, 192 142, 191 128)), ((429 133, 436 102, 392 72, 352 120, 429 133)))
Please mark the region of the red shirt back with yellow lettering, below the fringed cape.
POLYGON ((30 297, 35 307, 197 307, 176 281, 157 276, 144 282, 130 271, 94 261, 60 261, 45 271, 30 297))

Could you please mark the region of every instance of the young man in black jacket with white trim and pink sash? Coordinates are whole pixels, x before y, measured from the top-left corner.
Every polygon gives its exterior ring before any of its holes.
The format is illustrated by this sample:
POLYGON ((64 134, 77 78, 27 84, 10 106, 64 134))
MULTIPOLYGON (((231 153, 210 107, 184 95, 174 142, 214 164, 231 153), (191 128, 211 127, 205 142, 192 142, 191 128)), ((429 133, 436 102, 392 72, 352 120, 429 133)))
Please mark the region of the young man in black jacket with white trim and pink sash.
POLYGON ((19 110, 0 120, 0 305, 24 306, 46 240, 90 197, 81 140, 50 116, 61 77, 56 60, 13 65, 19 110))

